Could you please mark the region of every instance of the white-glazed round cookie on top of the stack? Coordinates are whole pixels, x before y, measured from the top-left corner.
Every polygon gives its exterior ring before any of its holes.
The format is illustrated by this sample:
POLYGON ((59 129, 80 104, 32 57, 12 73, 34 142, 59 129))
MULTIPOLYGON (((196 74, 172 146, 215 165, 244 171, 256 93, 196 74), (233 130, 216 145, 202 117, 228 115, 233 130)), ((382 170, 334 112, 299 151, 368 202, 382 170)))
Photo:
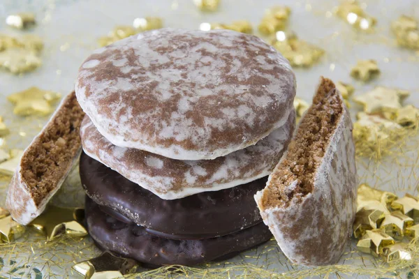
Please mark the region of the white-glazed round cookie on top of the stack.
POLYGON ((158 29, 96 50, 80 67, 75 91, 112 144, 204 160, 283 126, 293 110, 295 75, 256 36, 158 29))

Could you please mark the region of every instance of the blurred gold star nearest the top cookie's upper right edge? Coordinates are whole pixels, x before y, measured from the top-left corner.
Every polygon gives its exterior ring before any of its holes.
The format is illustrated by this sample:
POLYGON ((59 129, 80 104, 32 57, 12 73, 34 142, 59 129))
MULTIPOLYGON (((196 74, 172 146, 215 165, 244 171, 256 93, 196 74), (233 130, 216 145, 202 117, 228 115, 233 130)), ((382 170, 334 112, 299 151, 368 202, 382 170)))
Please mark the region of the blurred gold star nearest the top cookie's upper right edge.
POLYGON ((272 45, 288 59, 292 66, 310 67, 325 53, 320 47, 300 40, 294 33, 277 31, 272 45))

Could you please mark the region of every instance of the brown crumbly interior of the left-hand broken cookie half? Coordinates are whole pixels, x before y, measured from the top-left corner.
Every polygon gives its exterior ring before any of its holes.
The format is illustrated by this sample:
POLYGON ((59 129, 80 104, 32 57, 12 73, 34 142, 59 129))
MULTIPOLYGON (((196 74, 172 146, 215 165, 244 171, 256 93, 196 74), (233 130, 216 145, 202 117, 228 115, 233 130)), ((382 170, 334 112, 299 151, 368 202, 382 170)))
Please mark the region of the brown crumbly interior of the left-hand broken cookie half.
POLYGON ((71 93, 48 123, 40 137, 22 157, 21 174, 27 182, 35 204, 40 204, 50 193, 73 162, 80 149, 80 125, 84 112, 71 93))

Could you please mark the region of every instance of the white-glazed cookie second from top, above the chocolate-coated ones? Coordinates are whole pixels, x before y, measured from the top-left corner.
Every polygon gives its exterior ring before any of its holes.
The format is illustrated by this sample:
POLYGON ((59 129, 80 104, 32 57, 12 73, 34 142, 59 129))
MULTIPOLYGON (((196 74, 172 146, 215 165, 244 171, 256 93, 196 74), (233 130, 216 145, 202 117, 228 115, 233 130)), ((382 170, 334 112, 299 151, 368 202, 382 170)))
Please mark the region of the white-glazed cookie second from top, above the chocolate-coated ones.
POLYGON ((255 145, 214 160, 175 160, 106 140, 85 117, 80 129, 84 152, 162 199, 221 190, 267 176, 291 140, 295 112, 281 128, 255 145))

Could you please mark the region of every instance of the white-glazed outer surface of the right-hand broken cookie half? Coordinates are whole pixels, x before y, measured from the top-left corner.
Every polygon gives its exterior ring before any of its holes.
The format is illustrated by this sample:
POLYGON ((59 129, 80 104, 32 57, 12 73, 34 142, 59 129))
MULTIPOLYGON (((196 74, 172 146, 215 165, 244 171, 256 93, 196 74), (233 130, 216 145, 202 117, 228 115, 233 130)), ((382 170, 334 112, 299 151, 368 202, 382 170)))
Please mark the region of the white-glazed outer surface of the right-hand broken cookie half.
POLYGON ((338 262, 352 234, 358 183, 352 123, 346 107, 332 133, 316 169, 314 190, 301 202, 294 197, 288 207, 264 209, 264 190, 255 195, 263 221, 281 250, 291 261, 305 266, 338 262))

